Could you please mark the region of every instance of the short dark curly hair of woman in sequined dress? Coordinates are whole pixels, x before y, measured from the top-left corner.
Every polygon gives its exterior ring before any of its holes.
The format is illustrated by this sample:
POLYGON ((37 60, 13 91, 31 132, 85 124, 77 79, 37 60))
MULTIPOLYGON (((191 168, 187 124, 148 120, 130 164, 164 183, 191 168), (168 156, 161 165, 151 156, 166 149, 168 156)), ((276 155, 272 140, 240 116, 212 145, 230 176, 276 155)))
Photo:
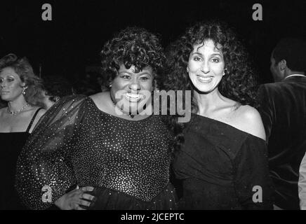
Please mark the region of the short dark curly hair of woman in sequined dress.
POLYGON ((121 64, 136 72, 150 66, 156 76, 164 71, 164 48, 159 37, 140 27, 127 27, 105 43, 102 51, 102 74, 114 80, 121 64))

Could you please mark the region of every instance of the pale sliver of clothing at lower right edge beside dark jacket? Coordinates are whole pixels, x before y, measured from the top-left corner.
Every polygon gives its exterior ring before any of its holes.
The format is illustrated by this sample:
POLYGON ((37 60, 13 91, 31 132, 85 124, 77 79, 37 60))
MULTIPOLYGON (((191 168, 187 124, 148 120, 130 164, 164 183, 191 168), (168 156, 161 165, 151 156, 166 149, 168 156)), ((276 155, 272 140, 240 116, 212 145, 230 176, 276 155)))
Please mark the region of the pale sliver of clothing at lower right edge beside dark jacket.
POLYGON ((300 176, 298 179, 298 197, 300 197, 300 209, 306 210, 306 154, 300 164, 300 176))

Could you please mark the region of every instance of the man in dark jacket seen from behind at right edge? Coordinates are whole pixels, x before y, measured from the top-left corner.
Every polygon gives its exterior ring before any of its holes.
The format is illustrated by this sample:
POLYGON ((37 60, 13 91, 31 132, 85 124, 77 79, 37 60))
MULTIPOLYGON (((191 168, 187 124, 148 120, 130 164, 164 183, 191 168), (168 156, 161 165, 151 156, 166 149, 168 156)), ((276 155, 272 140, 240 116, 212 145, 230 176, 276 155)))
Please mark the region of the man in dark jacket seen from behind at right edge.
POLYGON ((260 114, 268 141, 274 208, 300 209, 298 172, 306 151, 306 43, 281 40, 271 56, 275 83, 260 86, 260 114))

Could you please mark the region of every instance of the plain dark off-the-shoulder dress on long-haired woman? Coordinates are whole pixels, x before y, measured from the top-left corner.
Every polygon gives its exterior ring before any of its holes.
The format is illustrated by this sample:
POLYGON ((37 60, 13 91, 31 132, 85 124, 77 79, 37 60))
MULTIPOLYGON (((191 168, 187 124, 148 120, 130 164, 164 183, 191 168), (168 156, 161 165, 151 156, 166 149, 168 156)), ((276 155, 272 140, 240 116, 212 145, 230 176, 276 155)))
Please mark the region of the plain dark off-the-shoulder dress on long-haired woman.
POLYGON ((173 164, 182 180, 179 209, 272 209, 266 151, 262 139, 192 114, 173 164))

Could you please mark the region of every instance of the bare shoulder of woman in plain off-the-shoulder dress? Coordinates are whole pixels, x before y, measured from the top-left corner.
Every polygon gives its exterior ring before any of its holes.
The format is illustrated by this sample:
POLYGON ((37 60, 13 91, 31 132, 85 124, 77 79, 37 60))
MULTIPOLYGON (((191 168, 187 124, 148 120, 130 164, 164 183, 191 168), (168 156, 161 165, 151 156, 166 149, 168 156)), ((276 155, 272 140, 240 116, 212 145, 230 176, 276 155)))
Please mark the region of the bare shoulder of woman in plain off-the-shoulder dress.
POLYGON ((239 129, 265 140, 265 128, 260 113, 255 108, 248 105, 239 106, 236 113, 239 129))

